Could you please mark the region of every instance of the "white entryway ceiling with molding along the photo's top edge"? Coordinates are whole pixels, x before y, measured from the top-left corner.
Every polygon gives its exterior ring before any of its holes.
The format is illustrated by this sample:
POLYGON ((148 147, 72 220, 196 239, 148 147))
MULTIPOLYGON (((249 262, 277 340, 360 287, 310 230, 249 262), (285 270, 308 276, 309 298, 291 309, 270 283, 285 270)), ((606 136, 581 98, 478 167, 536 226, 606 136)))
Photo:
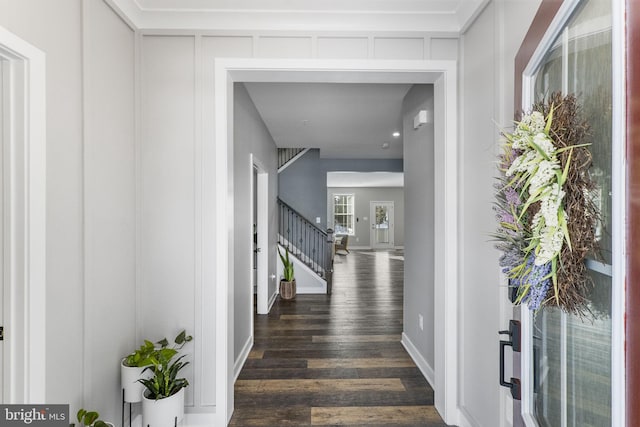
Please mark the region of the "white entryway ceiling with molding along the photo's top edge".
POLYGON ((111 0, 135 26, 459 33, 489 0, 111 0))

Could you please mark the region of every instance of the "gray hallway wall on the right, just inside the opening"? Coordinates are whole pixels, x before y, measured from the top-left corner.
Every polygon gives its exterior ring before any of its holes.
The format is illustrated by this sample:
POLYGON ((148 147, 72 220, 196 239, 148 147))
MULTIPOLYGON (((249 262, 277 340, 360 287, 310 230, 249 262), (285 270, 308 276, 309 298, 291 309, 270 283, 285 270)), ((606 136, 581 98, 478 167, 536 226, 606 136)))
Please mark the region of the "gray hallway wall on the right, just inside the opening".
MULTIPOLYGON (((424 359, 427 372, 434 359, 434 127, 413 129, 419 110, 433 111, 432 85, 415 85, 402 103, 404 135, 405 235, 404 335, 424 359), (418 325, 423 316, 424 328, 418 325)), ((433 384, 433 378, 429 379, 433 384)))

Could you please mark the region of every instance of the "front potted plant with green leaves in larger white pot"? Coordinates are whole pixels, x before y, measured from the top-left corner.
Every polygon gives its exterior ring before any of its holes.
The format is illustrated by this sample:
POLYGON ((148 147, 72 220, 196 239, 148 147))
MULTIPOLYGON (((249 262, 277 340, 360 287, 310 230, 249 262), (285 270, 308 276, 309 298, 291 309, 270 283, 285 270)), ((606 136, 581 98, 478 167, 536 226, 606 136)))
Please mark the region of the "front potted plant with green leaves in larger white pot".
POLYGON ((138 381, 144 386, 142 394, 142 422, 150 427, 173 427, 184 417, 184 390, 189 385, 186 378, 178 378, 178 373, 189 362, 185 355, 176 357, 178 350, 193 337, 182 331, 176 337, 176 346, 169 348, 166 339, 161 347, 149 357, 151 365, 145 368, 149 378, 138 381))

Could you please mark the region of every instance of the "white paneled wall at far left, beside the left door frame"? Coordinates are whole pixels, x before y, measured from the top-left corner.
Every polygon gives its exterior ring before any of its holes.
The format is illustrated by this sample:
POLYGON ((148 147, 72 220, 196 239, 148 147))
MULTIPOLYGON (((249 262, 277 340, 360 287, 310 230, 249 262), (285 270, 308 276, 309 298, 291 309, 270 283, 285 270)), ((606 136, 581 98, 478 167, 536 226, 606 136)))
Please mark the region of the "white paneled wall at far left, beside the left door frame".
POLYGON ((117 420, 135 329, 133 31, 80 0, 2 0, 0 25, 46 54, 46 403, 117 420))

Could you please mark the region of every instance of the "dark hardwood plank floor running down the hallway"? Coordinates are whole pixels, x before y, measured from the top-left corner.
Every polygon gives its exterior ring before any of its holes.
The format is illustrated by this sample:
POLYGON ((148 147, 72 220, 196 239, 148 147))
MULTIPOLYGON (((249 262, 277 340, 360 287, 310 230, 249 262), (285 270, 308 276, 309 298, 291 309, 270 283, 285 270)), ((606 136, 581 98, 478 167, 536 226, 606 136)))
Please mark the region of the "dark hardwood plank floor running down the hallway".
POLYGON ((337 255, 333 294, 255 317, 232 426, 445 426, 400 343, 401 252, 337 255))

